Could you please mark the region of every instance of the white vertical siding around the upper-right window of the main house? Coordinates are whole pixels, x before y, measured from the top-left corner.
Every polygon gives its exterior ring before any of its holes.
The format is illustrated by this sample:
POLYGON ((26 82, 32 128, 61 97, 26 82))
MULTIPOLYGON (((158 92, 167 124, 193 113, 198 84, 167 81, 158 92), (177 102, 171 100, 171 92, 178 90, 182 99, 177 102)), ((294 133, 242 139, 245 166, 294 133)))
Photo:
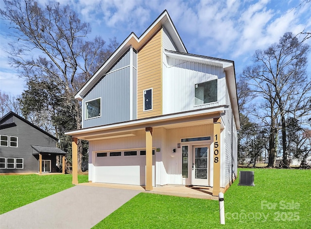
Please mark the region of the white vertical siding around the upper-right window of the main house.
POLYGON ((163 114, 226 105, 223 68, 163 55, 163 114), (218 79, 218 101, 195 106, 195 84, 214 79, 218 79))

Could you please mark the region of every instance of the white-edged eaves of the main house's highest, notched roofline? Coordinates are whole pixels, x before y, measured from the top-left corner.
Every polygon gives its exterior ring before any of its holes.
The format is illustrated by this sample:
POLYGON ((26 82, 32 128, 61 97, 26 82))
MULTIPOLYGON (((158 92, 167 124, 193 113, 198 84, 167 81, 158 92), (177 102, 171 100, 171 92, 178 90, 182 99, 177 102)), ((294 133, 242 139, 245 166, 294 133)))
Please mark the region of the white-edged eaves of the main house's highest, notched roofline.
POLYGON ((135 33, 131 33, 118 47, 118 49, 112 53, 108 60, 102 65, 99 70, 86 82, 86 84, 76 93, 75 99, 82 100, 89 90, 102 78, 102 76, 112 68, 116 61, 132 46, 134 49, 139 50, 144 44, 162 27, 170 35, 178 52, 187 53, 187 49, 182 42, 172 19, 170 18, 166 10, 155 19, 155 21, 147 28, 147 30, 138 36, 135 33))

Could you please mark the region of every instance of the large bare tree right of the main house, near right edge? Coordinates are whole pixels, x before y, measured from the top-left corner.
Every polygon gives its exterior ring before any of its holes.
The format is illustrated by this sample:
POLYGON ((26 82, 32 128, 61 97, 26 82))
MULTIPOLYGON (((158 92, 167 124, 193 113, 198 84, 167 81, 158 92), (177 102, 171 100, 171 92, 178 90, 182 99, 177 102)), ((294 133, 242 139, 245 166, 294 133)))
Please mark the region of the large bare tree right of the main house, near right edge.
POLYGON ((256 51, 254 66, 243 71, 243 77, 249 80, 252 90, 270 104, 271 111, 277 111, 270 116, 271 127, 277 120, 276 116, 279 116, 282 161, 285 166, 289 165, 286 120, 291 116, 302 118, 310 114, 311 84, 306 73, 308 52, 307 44, 303 44, 292 33, 285 33, 279 43, 264 51, 256 51))

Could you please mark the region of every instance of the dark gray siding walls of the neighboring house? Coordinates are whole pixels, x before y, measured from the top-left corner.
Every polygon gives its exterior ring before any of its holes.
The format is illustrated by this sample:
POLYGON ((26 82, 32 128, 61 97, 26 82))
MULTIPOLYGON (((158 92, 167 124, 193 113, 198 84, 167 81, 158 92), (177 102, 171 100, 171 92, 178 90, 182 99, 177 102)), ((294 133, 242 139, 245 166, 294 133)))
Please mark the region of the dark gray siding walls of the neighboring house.
MULTIPOLYGON (((56 141, 51 137, 45 135, 33 126, 24 123, 17 117, 14 117, 16 126, 0 130, 1 135, 18 137, 18 147, 0 146, 1 158, 23 158, 24 169, 0 169, 0 173, 26 173, 37 172, 38 158, 33 156, 33 148, 31 145, 41 146, 56 146, 56 141)), ((44 158, 42 159, 50 159, 44 158)), ((52 167, 55 167, 55 157, 51 162, 52 167)), ((53 172, 53 171, 52 171, 53 172)))

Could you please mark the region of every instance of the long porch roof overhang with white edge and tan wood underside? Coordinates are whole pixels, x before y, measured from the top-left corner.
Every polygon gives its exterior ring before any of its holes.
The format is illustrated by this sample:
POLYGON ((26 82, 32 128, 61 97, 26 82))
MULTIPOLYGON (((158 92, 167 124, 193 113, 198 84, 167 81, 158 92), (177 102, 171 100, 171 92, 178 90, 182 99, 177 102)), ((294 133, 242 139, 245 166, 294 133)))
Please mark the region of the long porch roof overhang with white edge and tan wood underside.
POLYGON ((179 127, 211 124, 213 123, 213 118, 220 117, 220 114, 224 112, 225 107, 221 108, 222 109, 214 111, 208 110, 208 112, 207 110, 194 111, 190 112, 190 114, 186 113, 187 115, 180 113, 147 118, 143 120, 128 121, 124 123, 114 123, 110 125, 70 131, 67 132, 66 135, 71 135, 74 138, 82 140, 95 141, 135 136, 138 130, 145 130, 146 127, 163 127, 166 129, 173 129, 179 127))

